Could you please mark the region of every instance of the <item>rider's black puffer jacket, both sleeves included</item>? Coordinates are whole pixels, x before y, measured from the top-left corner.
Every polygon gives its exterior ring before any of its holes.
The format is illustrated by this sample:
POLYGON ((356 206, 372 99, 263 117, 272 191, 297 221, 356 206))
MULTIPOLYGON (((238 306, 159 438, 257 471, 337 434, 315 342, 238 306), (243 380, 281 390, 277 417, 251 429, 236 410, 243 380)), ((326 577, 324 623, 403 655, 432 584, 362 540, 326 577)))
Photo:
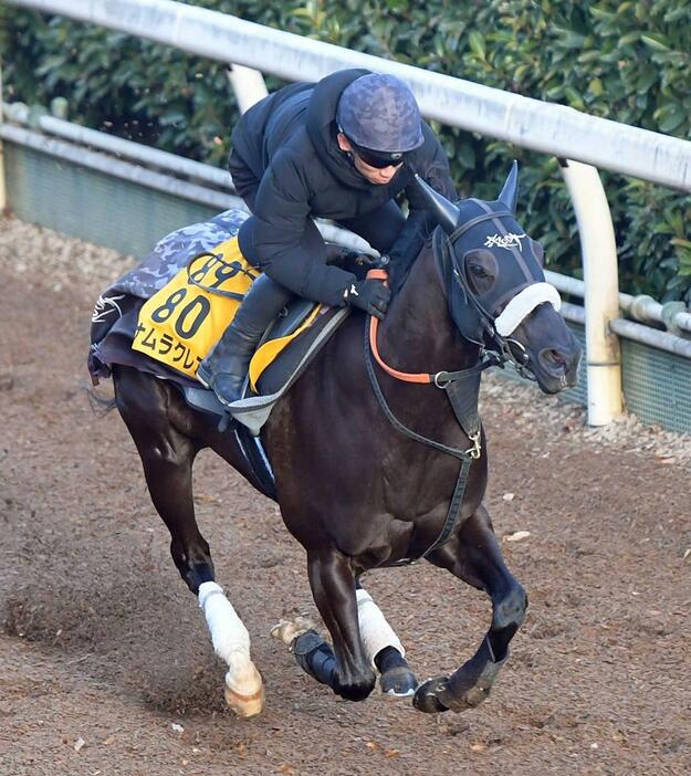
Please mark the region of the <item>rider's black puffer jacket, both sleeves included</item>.
MULTIPOLYGON (((272 264, 290 262, 295 279, 292 290, 327 304, 342 301, 354 276, 312 260, 300 247, 308 218, 352 219, 405 190, 410 214, 404 229, 407 234, 401 237, 410 251, 411 243, 421 247, 429 216, 413 171, 446 197, 457 197, 447 156, 427 124, 425 143, 406 155, 406 164, 387 185, 367 181, 339 149, 336 105, 345 87, 367 73, 345 70, 316 84, 285 86, 251 107, 231 136, 235 154, 261 179, 254 219, 248 224, 254 254, 249 254, 250 260, 255 259, 270 275, 272 264)), ((242 233, 240 244, 244 250, 242 233)))

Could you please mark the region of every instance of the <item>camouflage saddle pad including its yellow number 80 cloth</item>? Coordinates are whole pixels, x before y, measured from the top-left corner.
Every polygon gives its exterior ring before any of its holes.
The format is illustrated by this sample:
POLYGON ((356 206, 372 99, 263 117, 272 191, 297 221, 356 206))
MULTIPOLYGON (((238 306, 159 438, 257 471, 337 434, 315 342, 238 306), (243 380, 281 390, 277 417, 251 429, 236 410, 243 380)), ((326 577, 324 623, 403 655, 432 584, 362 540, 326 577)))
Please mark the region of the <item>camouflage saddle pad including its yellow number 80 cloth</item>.
MULTIPOLYGON (((123 364, 172 380, 197 409, 226 411, 195 375, 258 274, 237 244, 245 218, 242 210, 227 210, 168 234, 98 297, 88 355, 94 384, 111 375, 113 364, 123 364)), ((258 348, 233 417, 258 434, 348 312, 294 302, 258 348)))

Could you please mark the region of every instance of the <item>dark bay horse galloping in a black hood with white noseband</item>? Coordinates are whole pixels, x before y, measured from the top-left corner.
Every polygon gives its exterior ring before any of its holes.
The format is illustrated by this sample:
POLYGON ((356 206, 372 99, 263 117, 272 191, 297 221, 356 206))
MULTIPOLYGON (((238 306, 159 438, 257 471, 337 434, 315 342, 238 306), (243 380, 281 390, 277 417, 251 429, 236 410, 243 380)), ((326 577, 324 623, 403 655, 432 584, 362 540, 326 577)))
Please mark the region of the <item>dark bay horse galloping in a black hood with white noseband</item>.
MULTIPOLYGON (((554 394, 575 384, 580 348, 557 312, 558 294, 544 282, 542 249, 515 221, 515 165, 494 202, 453 205, 420 186, 440 228, 398 283, 379 326, 380 358, 390 371, 371 361, 367 367, 367 322, 354 312, 276 405, 261 438, 283 520, 306 550, 314 600, 333 640, 332 649, 304 627, 280 629, 300 664, 352 701, 369 695, 379 671, 386 692, 413 694, 421 711, 460 711, 489 693, 526 607, 482 506, 484 434, 468 428, 480 369, 493 353, 554 394), (410 373, 431 381, 407 381, 410 373), (465 382, 469 375, 477 380, 465 382), (460 386, 454 401, 452 386, 460 386), (417 686, 400 641, 359 577, 420 557, 484 590, 492 620, 473 658, 450 678, 417 686)), ((241 715, 255 714, 262 680, 197 526, 192 462, 211 448, 250 482, 251 472, 234 434, 187 406, 170 382, 117 365, 113 377, 151 500, 171 535, 172 559, 199 596, 214 649, 228 663, 228 703, 241 715)))

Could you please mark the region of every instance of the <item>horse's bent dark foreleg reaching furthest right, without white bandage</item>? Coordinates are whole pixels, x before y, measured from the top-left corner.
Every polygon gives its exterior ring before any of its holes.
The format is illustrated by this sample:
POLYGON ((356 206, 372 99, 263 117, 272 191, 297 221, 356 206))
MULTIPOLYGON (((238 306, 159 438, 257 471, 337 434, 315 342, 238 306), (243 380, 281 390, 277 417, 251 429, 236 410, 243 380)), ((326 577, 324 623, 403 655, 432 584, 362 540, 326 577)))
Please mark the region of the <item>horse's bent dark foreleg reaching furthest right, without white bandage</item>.
POLYGON ((509 657, 509 642, 525 617, 527 597, 506 568, 486 511, 481 506, 463 524, 456 542, 429 559, 492 599, 492 625, 475 654, 450 678, 430 679, 415 695, 416 709, 463 711, 482 703, 509 657))

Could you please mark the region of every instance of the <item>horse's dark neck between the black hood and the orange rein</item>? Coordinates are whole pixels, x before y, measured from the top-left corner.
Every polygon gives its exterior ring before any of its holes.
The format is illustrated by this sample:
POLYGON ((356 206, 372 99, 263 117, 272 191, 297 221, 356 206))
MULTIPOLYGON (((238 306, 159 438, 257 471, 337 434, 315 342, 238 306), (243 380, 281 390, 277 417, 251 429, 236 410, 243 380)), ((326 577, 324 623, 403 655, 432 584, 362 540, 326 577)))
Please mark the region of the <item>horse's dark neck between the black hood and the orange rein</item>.
POLYGON ((401 371, 464 369, 478 361, 478 347, 460 336, 451 319, 431 247, 422 249, 391 301, 379 347, 385 360, 401 371))

